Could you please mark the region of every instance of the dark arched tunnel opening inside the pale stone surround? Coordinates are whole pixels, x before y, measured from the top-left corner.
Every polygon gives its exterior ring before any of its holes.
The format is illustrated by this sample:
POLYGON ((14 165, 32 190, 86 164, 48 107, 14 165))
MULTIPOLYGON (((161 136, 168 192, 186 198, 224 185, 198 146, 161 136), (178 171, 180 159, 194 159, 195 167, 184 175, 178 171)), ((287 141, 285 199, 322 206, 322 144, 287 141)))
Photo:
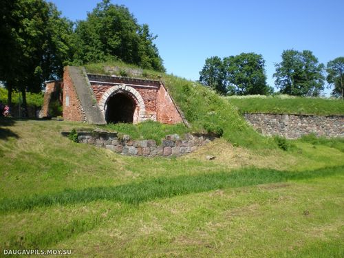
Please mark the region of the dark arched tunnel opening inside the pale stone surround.
POLYGON ((136 109, 135 101, 127 94, 114 94, 107 100, 105 120, 113 122, 133 122, 136 109))

